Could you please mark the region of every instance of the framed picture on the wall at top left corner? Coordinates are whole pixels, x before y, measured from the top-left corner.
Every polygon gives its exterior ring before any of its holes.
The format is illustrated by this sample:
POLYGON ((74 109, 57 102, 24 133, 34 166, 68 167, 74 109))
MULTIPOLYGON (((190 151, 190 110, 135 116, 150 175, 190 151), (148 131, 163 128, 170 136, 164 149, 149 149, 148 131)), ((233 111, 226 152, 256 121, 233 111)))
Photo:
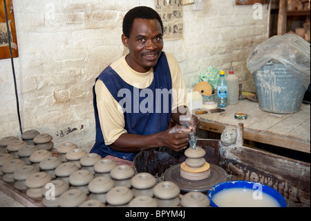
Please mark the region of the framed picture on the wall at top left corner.
MULTIPOLYGON (((10 43, 13 58, 19 57, 17 47, 17 36, 15 28, 14 10, 12 0, 6 1, 6 10, 8 12, 8 24, 10 29, 10 43)), ((0 0, 0 59, 10 58, 10 47, 8 41, 8 28, 6 24, 6 12, 4 1, 0 0)))

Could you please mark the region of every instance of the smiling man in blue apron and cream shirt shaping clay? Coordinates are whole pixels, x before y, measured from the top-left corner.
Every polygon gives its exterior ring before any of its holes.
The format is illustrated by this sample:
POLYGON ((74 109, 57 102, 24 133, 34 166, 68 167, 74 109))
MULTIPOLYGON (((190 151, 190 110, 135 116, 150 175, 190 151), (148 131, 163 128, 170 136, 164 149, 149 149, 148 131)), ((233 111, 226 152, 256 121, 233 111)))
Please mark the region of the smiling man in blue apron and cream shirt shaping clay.
POLYGON ((185 82, 173 55, 164 53, 163 24, 152 8, 129 10, 122 42, 129 53, 106 67, 93 87, 96 140, 91 152, 133 161, 140 150, 189 144, 198 118, 169 128, 187 112, 185 82))

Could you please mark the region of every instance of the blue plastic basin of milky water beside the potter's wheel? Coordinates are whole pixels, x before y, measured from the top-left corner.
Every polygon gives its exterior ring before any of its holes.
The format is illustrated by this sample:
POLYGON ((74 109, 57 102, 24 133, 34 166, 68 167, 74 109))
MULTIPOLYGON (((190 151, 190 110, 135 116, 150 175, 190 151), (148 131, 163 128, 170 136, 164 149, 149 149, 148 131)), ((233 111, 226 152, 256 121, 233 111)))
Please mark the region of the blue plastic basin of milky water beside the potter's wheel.
MULTIPOLYGON (((220 191, 229 190, 230 188, 245 188, 245 189, 254 191, 252 197, 257 197, 257 200, 266 200, 266 199, 260 198, 260 196, 261 196, 260 194, 265 193, 267 195, 270 195, 270 197, 272 197, 272 199, 276 200, 276 202, 279 203, 279 207, 286 207, 285 198, 283 197, 283 195, 281 195, 281 193, 276 191, 274 188, 267 186, 267 185, 264 185, 264 184, 260 184, 260 183, 256 183, 256 182, 250 182, 250 181, 244 181, 244 180, 223 182, 220 184, 216 184, 211 189, 209 189, 207 197, 209 198, 210 206, 218 207, 218 205, 215 204, 215 202, 213 201, 214 196, 217 193, 219 193, 220 191)), ((240 200, 245 200, 245 201, 249 200, 249 199, 244 198, 244 197, 245 196, 243 196, 243 194, 241 194, 241 198, 239 196, 238 199, 235 199, 235 200, 236 200, 236 202, 238 202, 240 200)), ((265 195, 263 195, 263 197, 265 197, 265 195)), ((228 196, 228 198, 229 198, 229 196, 228 196)), ((256 198, 253 198, 252 200, 255 200, 255 199, 256 198)), ((234 207, 234 206, 236 206, 236 204, 235 204, 235 202, 232 202, 232 207, 234 207)), ((248 204, 247 206, 252 206, 252 204, 248 204)))

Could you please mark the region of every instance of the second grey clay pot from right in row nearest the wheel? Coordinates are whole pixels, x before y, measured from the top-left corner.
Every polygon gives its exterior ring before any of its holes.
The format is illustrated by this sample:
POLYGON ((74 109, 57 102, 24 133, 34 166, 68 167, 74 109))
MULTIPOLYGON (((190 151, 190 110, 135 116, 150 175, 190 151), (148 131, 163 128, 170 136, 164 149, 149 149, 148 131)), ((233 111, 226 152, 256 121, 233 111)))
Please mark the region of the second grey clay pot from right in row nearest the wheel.
POLYGON ((177 197, 180 193, 180 188, 170 181, 163 181, 153 187, 153 194, 162 200, 169 200, 177 197))

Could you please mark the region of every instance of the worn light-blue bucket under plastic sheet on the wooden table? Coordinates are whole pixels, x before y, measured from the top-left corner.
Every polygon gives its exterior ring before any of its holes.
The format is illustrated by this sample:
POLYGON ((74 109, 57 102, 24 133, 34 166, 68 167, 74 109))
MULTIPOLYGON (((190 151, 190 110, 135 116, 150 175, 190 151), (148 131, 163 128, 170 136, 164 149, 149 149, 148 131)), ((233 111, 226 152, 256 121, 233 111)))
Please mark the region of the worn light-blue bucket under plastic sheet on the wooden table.
POLYGON ((253 73, 259 108, 265 112, 299 112, 305 87, 282 63, 267 62, 253 73))

